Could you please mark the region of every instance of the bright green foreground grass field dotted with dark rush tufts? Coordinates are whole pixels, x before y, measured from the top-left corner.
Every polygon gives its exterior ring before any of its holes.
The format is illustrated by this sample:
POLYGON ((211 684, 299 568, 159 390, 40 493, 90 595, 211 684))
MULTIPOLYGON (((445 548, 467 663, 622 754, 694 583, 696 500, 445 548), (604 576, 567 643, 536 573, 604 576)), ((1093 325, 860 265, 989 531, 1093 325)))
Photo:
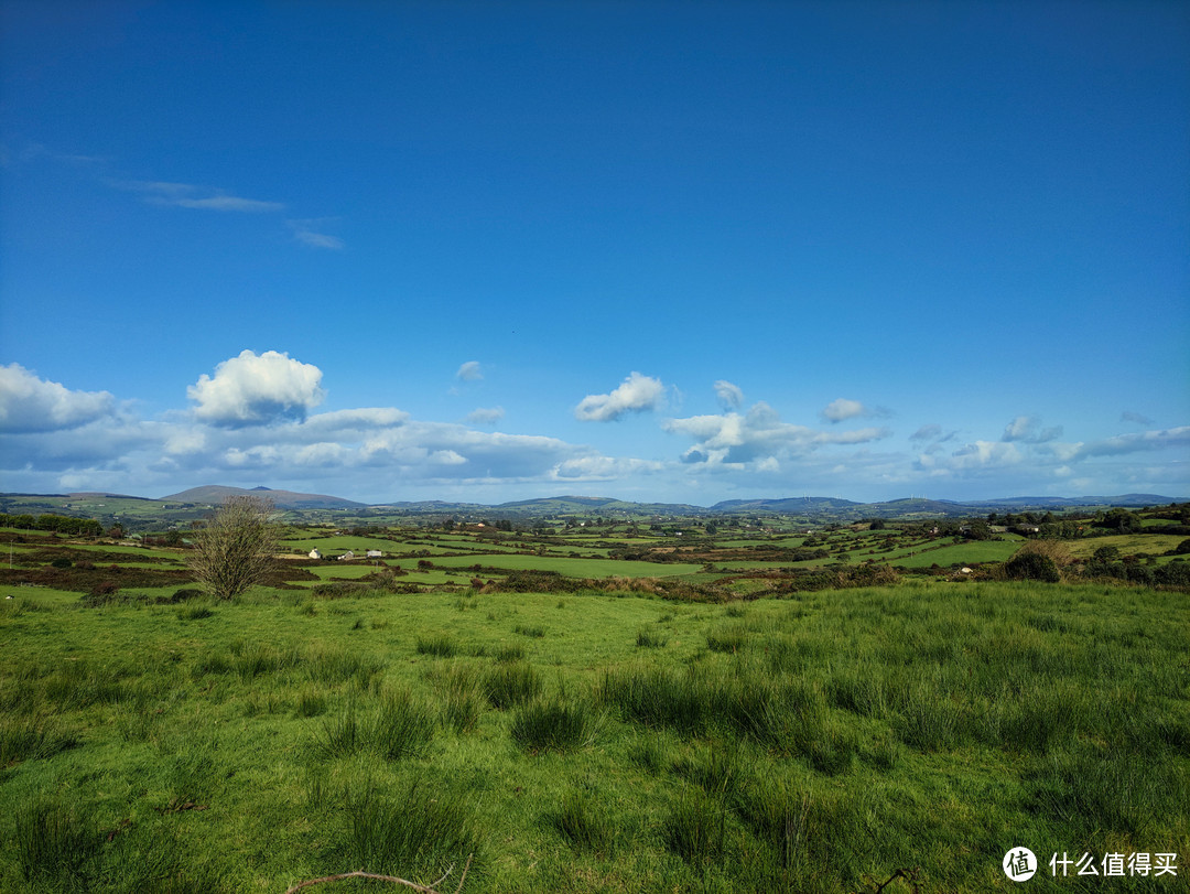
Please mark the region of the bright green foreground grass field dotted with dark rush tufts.
POLYGON ((5 892, 453 890, 470 854, 465 892, 1007 892, 1012 846, 1179 855, 1041 890, 1190 875, 1180 593, 10 594, 5 892))

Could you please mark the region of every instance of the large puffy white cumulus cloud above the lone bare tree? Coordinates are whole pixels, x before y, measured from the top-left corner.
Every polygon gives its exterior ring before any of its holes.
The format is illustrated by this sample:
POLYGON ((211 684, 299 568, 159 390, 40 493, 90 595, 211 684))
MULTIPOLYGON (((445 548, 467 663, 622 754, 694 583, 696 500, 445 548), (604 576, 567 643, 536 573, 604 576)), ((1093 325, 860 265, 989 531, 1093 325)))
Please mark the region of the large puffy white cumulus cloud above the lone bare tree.
POLYGON ((194 415, 200 421, 230 427, 267 425, 303 419, 322 402, 321 380, 318 367, 290 360, 288 354, 244 350, 215 367, 213 377, 203 373, 186 393, 198 404, 194 415))

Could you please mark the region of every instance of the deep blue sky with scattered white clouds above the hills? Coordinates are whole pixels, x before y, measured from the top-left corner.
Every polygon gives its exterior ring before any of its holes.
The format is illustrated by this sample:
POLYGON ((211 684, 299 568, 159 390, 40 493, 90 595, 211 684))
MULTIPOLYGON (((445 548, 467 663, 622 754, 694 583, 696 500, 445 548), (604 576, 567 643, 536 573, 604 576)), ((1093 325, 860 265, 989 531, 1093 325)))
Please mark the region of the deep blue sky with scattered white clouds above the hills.
POLYGON ((0 489, 1190 495, 1185 4, 0 17, 0 489))

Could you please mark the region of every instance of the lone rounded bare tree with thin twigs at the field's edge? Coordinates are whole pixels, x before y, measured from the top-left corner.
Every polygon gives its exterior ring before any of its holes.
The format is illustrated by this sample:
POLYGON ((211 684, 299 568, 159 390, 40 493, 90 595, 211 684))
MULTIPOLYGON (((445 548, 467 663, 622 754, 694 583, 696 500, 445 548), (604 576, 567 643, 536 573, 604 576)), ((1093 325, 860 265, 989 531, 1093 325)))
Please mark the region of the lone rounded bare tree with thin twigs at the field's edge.
POLYGON ((233 599, 273 570, 277 550, 275 508, 262 496, 228 496, 194 533, 190 571, 219 599, 233 599))

